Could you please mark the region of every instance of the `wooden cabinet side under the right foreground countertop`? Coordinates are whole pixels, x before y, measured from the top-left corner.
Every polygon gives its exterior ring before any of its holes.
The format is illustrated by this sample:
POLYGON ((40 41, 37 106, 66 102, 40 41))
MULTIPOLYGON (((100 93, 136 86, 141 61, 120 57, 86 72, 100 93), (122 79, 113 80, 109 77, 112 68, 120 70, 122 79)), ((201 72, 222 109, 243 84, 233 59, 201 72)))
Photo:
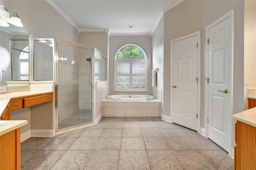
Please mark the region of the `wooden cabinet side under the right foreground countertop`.
POLYGON ((256 127, 237 121, 235 128, 234 169, 256 170, 256 127))

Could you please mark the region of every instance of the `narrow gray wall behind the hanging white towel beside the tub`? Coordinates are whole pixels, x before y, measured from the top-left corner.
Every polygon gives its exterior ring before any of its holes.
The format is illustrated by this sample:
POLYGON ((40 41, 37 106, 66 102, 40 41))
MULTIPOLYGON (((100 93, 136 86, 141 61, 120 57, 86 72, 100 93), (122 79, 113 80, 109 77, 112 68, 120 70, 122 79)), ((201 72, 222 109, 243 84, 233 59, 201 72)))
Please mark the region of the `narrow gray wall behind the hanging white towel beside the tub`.
MULTIPOLYGON (((164 16, 152 35, 152 69, 157 67, 159 71, 157 72, 156 87, 152 87, 152 95, 155 97, 159 97, 156 88, 161 88, 162 94, 164 89, 164 16)), ((163 101, 163 95, 161 97, 163 101)), ((162 108, 163 102, 160 113, 163 113, 162 108)))

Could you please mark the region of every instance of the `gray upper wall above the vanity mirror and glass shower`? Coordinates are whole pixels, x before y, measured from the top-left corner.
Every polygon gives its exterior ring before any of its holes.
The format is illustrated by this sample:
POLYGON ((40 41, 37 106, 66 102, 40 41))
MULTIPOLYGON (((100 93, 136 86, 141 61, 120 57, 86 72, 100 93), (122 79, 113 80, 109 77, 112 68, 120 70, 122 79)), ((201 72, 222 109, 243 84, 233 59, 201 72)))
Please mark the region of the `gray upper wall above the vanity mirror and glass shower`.
POLYGON ((40 38, 79 42, 78 31, 44 0, 1 0, 9 12, 18 12, 22 29, 40 38))

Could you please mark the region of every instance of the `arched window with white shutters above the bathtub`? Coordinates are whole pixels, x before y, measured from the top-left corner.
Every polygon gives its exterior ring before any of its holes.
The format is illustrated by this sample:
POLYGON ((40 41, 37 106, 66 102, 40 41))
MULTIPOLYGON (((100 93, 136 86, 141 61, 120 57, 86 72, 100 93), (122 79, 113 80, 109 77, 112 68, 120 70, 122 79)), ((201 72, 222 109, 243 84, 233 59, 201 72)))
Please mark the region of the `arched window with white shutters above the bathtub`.
POLYGON ((116 53, 115 91, 147 91, 147 59, 137 45, 125 45, 116 53))

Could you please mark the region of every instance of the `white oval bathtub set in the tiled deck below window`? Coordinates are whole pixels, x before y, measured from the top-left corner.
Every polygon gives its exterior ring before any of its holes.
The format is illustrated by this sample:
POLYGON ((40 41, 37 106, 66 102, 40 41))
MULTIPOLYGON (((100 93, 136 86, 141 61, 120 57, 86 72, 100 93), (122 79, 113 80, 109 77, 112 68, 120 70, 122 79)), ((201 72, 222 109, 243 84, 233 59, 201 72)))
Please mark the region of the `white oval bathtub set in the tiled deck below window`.
POLYGON ((150 100, 154 100, 154 96, 150 95, 110 95, 107 98, 110 100, 119 100, 119 101, 146 101, 150 97, 150 100))

